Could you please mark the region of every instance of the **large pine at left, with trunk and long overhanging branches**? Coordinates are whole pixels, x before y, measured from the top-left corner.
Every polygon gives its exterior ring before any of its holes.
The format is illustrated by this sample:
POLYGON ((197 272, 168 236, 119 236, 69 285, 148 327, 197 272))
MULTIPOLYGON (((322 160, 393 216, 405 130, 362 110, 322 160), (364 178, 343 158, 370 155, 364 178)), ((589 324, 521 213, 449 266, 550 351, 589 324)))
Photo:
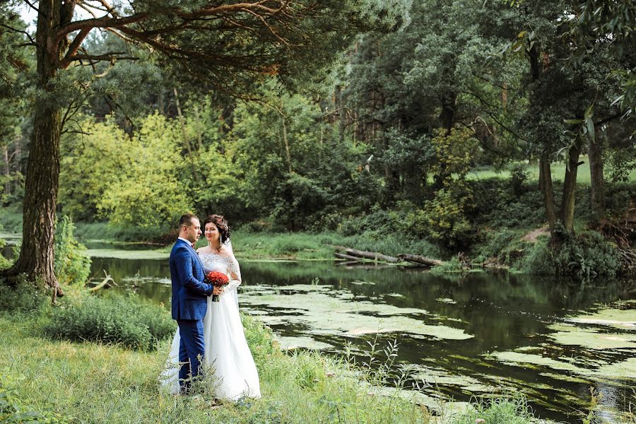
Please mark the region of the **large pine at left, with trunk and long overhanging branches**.
MULTIPOLYGON (((11 13, 15 3, 2 6, 2 12, 11 13)), ((406 4, 399 0, 388 4, 375 0, 24 3, 37 11, 35 37, 27 43, 35 47, 37 95, 25 177, 23 246, 8 274, 42 278, 54 293, 59 289, 53 260, 59 141, 64 110, 69 108, 61 93, 64 86, 75 83, 69 72, 73 67, 132 59, 126 51, 95 54, 84 49, 91 31, 107 30, 127 43, 145 45, 158 54, 161 64, 239 94, 249 93, 268 76, 290 85, 316 81, 357 33, 399 28, 406 13, 406 4), (78 19, 78 8, 93 17, 78 19)))

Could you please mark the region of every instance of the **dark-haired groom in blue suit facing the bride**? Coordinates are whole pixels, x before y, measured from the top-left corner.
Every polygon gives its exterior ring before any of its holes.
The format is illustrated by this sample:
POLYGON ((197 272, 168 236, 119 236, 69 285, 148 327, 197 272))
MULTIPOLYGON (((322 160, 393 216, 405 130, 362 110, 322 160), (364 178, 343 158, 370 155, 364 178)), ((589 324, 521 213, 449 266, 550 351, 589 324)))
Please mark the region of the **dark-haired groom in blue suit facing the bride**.
POLYGON ((199 375, 205 354, 204 325, 208 302, 206 296, 220 291, 204 283, 205 273, 194 243, 201 236, 199 218, 187 213, 179 219, 179 238, 170 252, 172 279, 172 319, 179 325, 179 386, 188 391, 192 379, 199 375))

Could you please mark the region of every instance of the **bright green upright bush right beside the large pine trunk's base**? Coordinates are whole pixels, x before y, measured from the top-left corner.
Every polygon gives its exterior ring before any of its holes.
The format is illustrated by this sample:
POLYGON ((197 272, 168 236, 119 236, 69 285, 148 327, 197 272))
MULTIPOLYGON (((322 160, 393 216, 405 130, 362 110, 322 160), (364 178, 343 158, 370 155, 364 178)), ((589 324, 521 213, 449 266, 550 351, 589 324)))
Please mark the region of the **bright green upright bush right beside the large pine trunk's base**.
POLYGON ((73 238, 75 226, 64 216, 55 235, 55 275, 60 285, 83 285, 90 274, 90 257, 86 246, 73 238))

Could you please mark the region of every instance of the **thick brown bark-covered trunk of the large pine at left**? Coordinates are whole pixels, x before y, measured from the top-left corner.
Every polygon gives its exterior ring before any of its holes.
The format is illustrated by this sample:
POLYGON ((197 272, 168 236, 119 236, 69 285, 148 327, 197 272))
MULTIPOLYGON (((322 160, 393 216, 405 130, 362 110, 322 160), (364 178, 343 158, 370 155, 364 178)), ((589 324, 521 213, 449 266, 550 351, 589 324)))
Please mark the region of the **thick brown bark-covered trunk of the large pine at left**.
POLYGON ((25 175, 22 248, 9 276, 25 273, 30 281, 42 281, 53 289, 53 302, 61 295, 54 270, 55 209, 59 187, 59 138, 61 108, 49 99, 57 73, 59 49, 53 46, 55 30, 64 18, 60 1, 40 1, 37 16, 37 88, 33 139, 25 175))

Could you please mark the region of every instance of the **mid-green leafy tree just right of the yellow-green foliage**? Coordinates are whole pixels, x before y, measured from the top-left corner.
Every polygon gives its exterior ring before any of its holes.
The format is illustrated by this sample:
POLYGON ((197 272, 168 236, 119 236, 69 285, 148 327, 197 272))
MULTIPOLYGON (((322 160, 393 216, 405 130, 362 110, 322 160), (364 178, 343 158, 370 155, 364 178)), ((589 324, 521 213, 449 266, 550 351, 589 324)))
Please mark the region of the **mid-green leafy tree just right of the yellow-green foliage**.
POLYGON ((363 169, 367 146, 341 139, 302 95, 270 90, 266 100, 239 105, 230 134, 248 206, 293 230, 318 228, 338 209, 370 206, 379 182, 363 169))

